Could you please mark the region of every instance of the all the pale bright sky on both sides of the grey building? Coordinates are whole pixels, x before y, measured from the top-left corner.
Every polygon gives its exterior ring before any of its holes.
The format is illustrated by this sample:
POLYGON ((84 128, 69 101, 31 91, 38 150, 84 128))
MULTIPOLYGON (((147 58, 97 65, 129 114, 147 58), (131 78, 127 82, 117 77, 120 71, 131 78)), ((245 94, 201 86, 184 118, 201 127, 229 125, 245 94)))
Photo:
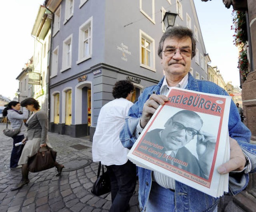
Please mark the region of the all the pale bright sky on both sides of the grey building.
MULTIPOLYGON (((210 65, 217 65, 226 83, 232 81, 234 86, 240 85, 237 69, 238 49, 233 45, 234 32, 230 30, 232 6, 227 9, 220 0, 194 2, 206 52, 212 60, 210 65)), ((0 13, 0 94, 5 97, 15 97, 18 89, 16 78, 34 54, 34 38, 31 32, 39 6, 43 3, 44 0, 1 2, 2 8, 6 9, 0 13)))

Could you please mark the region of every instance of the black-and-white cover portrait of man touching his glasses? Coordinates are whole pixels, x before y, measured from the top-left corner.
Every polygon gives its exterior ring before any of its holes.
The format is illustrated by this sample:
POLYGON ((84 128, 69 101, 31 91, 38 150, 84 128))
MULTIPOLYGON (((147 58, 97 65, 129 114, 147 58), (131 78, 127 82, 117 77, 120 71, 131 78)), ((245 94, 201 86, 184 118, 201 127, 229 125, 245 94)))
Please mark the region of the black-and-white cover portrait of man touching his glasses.
MULTIPOLYGON (((166 121, 164 129, 148 131, 143 140, 164 147, 158 149, 158 159, 208 179, 216 146, 216 136, 202 131, 203 125, 203 120, 198 113, 180 110, 166 121), (193 139, 196 139, 196 145, 194 145, 196 150, 192 154, 190 148, 188 149, 185 145, 193 139)), ((152 151, 149 155, 154 154, 156 152, 152 151)))

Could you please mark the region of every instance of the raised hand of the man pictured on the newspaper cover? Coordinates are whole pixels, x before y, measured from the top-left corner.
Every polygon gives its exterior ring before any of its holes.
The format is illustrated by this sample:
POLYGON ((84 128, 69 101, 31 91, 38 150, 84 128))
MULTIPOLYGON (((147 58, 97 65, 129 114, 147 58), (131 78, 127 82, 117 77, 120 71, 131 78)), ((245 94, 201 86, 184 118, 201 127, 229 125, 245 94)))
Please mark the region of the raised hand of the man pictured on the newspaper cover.
POLYGON ((199 131, 199 133, 197 135, 196 152, 203 173, 209 176, 216 146, 216 137, 204 131, 199 131))

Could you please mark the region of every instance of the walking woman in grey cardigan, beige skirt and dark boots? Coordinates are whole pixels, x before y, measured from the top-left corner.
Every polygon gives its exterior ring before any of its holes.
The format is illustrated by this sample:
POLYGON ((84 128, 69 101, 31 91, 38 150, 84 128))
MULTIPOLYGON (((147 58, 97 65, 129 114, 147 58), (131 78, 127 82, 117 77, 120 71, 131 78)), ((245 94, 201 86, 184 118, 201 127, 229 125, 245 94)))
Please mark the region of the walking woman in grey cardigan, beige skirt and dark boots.
MULTIPOLYGON (((32 115, 29 117, 25 125, 27 129, 27 137, 23 139, 22 142, 26 141, 22 155, 18 164, 22 165, 22 179, 21 181, 11 190, 17 190, 22 188, 25 184, 29 183, 28 179, 28 157, 36 155, 40 148, 46 148, 46 146, 52 149, 50 142, 48 141, 48 117, 43 110, 40 110, 40 105, 38 101, 33 98, 26 98, 21 102, 22 107, 26 107, 29 111, 32 112, 32 115)), ((56 176, 60 176, 63 165, 55 162, 55 167, 58 171, 56 176)))

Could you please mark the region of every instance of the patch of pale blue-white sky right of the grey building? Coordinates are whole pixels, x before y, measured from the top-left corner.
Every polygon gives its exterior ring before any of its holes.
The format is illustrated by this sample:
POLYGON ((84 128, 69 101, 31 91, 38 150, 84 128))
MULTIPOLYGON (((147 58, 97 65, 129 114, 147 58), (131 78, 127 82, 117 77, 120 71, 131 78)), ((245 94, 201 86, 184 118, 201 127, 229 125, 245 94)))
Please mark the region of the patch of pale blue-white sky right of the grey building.
POLYGON ((206 53, 212 61, 209 65, 217 65, 226 83, 232 81, 232 85, 240 86, 238 48, 233 44, 234 30, 231 30, 232 6, 226 8, 221 0, 194 0, 194 4, 206 53))

